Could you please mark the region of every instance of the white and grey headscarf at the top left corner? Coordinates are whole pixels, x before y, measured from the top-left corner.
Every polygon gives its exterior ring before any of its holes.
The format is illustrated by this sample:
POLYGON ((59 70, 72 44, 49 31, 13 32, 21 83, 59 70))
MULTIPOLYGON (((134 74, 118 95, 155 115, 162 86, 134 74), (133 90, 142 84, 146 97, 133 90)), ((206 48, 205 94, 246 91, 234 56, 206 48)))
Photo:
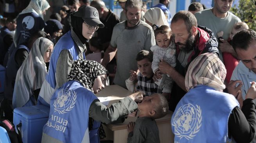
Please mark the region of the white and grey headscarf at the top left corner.
POLYGON ((43 18, 43 11, 50 7, 47 0, 31 0, 29 5, 20 14, 34 12, 43 18))

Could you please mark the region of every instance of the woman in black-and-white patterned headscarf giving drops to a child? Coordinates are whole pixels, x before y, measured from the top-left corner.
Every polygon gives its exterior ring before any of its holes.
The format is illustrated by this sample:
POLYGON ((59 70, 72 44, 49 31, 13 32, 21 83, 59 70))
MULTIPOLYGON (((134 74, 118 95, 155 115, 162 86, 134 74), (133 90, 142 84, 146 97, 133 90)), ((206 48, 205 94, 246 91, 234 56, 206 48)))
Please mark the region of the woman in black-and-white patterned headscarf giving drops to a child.
POLYGON ((107 70, 96 61, 74 61, 68 82, 57 89, 50 101, 50 115, 43 127, 42 143, 100 143, 100 122, 109 124, 138 109, 136 92, 106 107, 93 93, 104 88, 107 70))

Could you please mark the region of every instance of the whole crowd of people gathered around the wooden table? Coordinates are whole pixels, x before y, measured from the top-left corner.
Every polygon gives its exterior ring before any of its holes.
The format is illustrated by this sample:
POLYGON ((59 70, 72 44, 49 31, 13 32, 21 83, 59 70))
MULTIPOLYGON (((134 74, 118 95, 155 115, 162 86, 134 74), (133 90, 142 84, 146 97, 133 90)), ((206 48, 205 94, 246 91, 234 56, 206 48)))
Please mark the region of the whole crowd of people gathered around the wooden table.
POLYGON ((193 2, 174 16, 169 0, 116 3, 120 16, 103 0, 30 0, 3 12, 0 119, 44 105, 43 143, 99 143, 100 122, 135 114, 128 143, 159 143, 155 119, 170 110, 175 142, 256 141, 256 32, 229 12, 233 0, 193 2), (133 94, 106 107, 95 94, 111 84, 133 94))

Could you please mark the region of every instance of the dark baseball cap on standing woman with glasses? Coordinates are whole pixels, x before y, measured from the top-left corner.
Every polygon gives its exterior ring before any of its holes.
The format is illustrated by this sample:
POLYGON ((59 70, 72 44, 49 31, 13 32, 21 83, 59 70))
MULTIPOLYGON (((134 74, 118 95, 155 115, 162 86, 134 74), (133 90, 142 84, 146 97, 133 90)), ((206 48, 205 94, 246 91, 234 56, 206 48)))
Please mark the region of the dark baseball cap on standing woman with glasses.
POLYGON ((98 17, 98 10, 88 5, 82 5, 76 12, 72 13, 73 16, 81 17, 84 22, 90 26, 99 26, 104 28, 104 24, 98 17))

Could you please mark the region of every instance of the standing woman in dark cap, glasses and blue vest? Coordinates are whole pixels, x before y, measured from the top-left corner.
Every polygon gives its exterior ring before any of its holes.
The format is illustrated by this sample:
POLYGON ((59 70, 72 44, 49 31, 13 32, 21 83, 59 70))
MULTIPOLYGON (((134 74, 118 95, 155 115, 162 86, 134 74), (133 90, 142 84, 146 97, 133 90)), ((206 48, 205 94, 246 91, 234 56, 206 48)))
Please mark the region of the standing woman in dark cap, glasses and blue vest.
POLYGON ((85 59, 86 42, 98 28, 104 27, 98 17, 98 10, 94 7, 83 5, 70 16, 73 28, 54 46, 49 70, 39 93, 38 104, 50 106, 52 94, 67 81, 73 61, 79 58, 85 59))

